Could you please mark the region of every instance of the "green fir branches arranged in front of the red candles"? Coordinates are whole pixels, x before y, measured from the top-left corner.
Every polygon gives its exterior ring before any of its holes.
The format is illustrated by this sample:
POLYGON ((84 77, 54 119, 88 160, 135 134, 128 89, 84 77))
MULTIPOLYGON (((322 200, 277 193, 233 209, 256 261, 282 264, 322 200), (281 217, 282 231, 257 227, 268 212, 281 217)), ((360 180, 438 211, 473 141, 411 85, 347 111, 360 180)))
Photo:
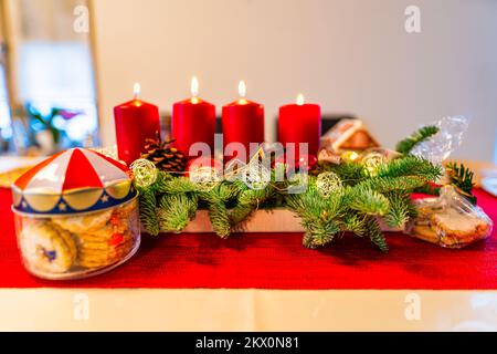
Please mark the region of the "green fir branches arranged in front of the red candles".
MULTIPOLYGON (((442 166, 410 155, 436 127, 423 127, 398 144, 403 152, 393 159, 370 164, 368 155, 339 165, 319 164, 310 175, 296 174, 278 181, 277 168, 271 170, 271 183, 251 189, 240 179, 221 178, 205 188, 184 176, 159 171, 154 184, 137 185, 140 192, 140 218, 147 232, 181 232, 198 209, 207 209, 213 229, 221 238, 243 228, 252 212, 261 208, 288 208, 300 218, 306 232, 303 243, 321 247, 339 239, 346 231, 368 237, 380 250, 388 244, 379 219, 392 228, 402 228, 416 217, 410 195, 414 191, 436 194, 432 187, 443 175, 442 166), (307 184, 302 184, 306 179, 307 184), (290 187, 305 186, 292 194, 290 187)), ((470 194, 472 173, 463 166, 448 166, 452 181, 470 194)))

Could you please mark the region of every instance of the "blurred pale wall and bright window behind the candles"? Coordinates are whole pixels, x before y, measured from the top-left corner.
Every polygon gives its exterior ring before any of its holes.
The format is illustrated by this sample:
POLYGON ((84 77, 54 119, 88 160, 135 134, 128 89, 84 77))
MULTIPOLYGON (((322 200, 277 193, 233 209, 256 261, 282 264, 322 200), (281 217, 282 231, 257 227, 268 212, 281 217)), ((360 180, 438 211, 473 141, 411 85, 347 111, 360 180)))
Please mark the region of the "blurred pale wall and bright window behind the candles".
MULTIPOLYGON (((472 118, 455 156, 496 162, 495 0, 0 0, 0 154, 115 144, 113 107, 157 104, 167 126, 190 79, 218 106, 304 93, 392 147, 447 115, 472 118), (421 32, 409 33, 416 6, 421 32)), ((1 164, 0 159, 0 164, 1 164)))

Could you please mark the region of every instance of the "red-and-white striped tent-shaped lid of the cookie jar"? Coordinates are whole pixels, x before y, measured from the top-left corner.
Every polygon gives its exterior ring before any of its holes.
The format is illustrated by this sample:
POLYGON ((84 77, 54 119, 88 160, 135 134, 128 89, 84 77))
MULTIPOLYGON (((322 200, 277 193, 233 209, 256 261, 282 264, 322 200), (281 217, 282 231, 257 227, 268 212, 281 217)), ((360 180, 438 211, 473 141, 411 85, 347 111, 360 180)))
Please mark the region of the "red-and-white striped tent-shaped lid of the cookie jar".
POLYGON ((43 160, 22 175, 12 191, 14 210, 56 215, 108 208, 136 195, 125 165, 84 148, 43 160))

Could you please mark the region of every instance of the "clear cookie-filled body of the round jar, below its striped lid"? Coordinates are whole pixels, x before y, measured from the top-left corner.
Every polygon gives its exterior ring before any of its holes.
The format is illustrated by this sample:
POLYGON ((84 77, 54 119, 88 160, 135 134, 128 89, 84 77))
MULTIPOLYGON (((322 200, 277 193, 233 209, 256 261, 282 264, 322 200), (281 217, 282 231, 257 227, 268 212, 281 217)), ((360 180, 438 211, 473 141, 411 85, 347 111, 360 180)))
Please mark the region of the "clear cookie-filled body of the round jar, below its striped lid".
POLYGON ((73 215, 12 210, 22 261, 39 278, 101 274, 131 258, 140 244, 136 196, 112 208, 73 215))

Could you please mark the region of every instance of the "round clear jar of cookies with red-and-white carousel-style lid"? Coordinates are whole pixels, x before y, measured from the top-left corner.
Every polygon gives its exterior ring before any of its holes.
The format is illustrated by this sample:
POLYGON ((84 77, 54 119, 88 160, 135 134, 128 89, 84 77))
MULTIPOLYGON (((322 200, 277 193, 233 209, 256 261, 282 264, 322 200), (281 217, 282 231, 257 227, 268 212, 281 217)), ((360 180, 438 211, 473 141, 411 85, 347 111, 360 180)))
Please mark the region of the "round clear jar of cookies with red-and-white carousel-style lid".
POLYGON ((97 152, 56 154, 12 186, 19 250, 43 279, 108 271, 138 250, 137 191, 129 169, 97 152))

